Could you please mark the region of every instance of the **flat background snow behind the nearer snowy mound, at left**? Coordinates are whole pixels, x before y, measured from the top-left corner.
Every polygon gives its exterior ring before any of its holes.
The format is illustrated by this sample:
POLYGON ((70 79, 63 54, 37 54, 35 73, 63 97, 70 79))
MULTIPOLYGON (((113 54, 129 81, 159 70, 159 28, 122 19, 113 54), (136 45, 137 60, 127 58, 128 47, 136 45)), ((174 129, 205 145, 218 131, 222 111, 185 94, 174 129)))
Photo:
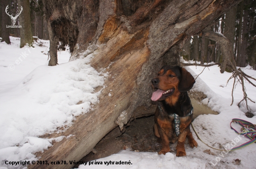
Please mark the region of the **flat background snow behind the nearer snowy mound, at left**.
MULTIPOLYGON (((44 46, 35 48, 27 47, 20 49, 20 38, 10 37, 11 45, 5 42, 0 43, 0 90, 13 88, 32 70, 38 66, 48 65, 47 55, 41 52, 49 51, 49 41, 39 40, 44 46), (27 49, 27 50, 26 50, 27 49), (29 51, 31 53, 29 53, 29 51), (21 55, 27 54, 24 59, 21 55), (20 59, 21 60, 20 60, 20 59), (20 64, 16 64, 18 60, 20 64), (9 69, 8 69, 9 68, 9 69)), ((48 54, 48 52, 47 52, 48 54)), ((58 51, 58 63, 67 63, 70 57, 68 51, 58 51)))

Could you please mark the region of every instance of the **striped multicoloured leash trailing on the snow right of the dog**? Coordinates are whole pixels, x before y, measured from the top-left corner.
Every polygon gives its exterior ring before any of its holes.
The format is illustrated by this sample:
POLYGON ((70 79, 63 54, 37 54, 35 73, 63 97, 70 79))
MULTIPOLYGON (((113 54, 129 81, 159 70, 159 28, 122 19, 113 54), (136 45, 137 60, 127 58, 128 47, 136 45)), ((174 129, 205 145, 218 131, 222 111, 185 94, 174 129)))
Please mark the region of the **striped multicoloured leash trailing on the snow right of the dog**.
MULTIPOLYGON (((194 126, 193 126, 192 123, 191 123, 191 126, 192 126, 193 130, 195 131, 195 128, 194 128, 194 126)), ((245 120, 243 120, 243 119, 232 119, 232 121, 230 122, 230 128, 231 128, 232 130, 234 130, 237 134, 243 135, 243 137, 246 136, 247 138, 250 139, 250 141, 248 141, 248 142, 246 142, 246 143, 244 143, 244 144, 242 144, 242 145, 239 145, 239 146, 237 146, 237 147, 234 147, 234 148, 232 148, 232 149, 229 150, 229 151, 234 151, 234 150, 237 150, 237 149, 241 149, 241 148, 243 148, 243 147, 245 147, 245 146, 247 146, 247 145, 249 145, 249 144, 256 143, 256 126, 253 125, 252 123, 250 123, 249 121, 245 121, 245 120), (232 123, 237 123, 237 124, 239 124, 240 126, 242 126, 242 128, 241 128, 241 133, 239 133, 238 131, 236 131, 236 129, 234 129, 234 128, 231 126, 232 123)), ((195 131, 195 135, 197 136, 197 138, 198 138, 200 141, 202 141, 202 139, 199 137, 199 135, 197 134, 196 131, 195 131)), ((205 145, 207 145, 208 147, 210 147, 210 148, 212 148, 212 149, 223 151, 223 150, 221 150, 221 149, 216 149, 216 148, 214 148, 214 147, 211 147, 211 146, 209 146, 208 144, 204 143, 203 141, 202 141, 202 143, 205 144, 205 145)))

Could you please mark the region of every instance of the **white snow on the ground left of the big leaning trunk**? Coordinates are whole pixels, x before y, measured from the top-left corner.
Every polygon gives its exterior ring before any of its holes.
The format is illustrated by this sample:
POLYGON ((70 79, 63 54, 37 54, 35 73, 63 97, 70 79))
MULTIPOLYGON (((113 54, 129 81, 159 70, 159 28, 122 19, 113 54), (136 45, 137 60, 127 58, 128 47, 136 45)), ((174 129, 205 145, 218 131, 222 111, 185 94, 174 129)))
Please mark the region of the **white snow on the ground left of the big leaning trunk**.
POLYGON ((34 153, 53 141, 73 137, 38 138, 65 131, 76 116, 87 113, 99 101, 101 90, 94 93, 94 88, 103 86, 106 76, 87 64, 93 54, 68 62, 70 54, 61 51, 59 65, 50 67, 41 53, 49 50, 49 41, 42 40, 46 47, 20 49, 19 39, 10 38, 11 45, 0 43, 0 166, 9 169, 6 160, 35 160, 34 153), (20 56, 26 51, 27 57, 20 56))

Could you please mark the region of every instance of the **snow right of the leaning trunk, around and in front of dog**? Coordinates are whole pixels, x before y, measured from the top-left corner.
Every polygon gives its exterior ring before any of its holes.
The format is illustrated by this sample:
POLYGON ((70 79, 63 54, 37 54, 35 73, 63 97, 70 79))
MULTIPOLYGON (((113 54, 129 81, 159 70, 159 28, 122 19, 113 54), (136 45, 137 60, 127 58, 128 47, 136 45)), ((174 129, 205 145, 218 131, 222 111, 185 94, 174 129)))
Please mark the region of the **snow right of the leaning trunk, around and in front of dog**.
MULTIPOLYGON (((190 61, 191 62, 191 61, 190 61)), ((190 66, 186 69, 196 77, 202 72, 204 67, 190 66)), ((243 69, 248 75, 256 76, 256 71, 246 67, 243 69)), ((206 68, 204 72, 196 79, 195 85, 191 90, 200 91, 206 94, 207 98, 202 100, 203 104, 207 104, 212 110, 220 113, 218 115, 200 115, 194 121, 193 125, 195 130, 199 134, 200 138, 212 147, 217 149, 230 150, 233 146, 238 146, 249 141, 249 139, 239 136, 235 131, 230 129, 230 122, 234 118, 244 119, 253 124, 256 124, 256 116, 253 118, 247 118, 244 112, 247 112, 244 106, 238 107, 237 103, 243 99, 243 93, 241 86, 237 85, 234 93, 234 104, 231 104, 231 91, 233 86, 233 80, 226 86, 226 82, 231 76, 231 73, 220 73, 220 68, 211 66, 206 68), (221 87, 223 86, 223 87, 221 87), (241 139, 240 139, 240 138, 241 139), (235 145, 236 144, 236 145, 235 145)), ((256 90, 248 82, 245 83, 248 96, 252 100, 256 100, 256 90)), ((252 113, 256 114, 256 104, 249 103, 252 113)), ((240 127, 236 124, 232 124, 236 130, 240 127)), ((242 149, 235 151, 218 151, 209 148, 203 144, 195 135, 191 128, 193 137, 198 143, 198 147, 192 149, 189 146, 188 140, 185 143, 185 150, 187 156, 176 157, 175 152, 167 153, 164 155, 158 155, 156 152, 133 152, 130 150, 121 150, 117 154, 97 159, 96 162, 102 162, 102 165, 80 165, 79 169, 254 169, 256 162, 256 145, 251 144, 242 149), (206 151, 205 151, 206 150, 206 151), (209 151, 210 150, 210 151, 209 151), (205 152, 204 152, 205 151, 205 152), (209 153, 207 153, 209 152, 209 153), (236 159, 241 160, 241 164, 235 162, 236 159), (104 162, 126 162, 129 161, 132 164, 126 165, 107 165, 104 162)), ((171 150, 175 150, 177 143, 170 144, 171 150)), ((91 161, 91 162, 95 162, 91 161)))

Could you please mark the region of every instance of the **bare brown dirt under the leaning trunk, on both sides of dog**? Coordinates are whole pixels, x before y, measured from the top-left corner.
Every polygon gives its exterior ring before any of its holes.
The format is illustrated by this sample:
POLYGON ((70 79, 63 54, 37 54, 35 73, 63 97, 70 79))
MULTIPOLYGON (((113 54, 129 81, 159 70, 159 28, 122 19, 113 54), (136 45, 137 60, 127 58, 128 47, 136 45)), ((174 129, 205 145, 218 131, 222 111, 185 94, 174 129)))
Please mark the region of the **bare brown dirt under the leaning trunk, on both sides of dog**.
MULTIPOLYGON (((201 92, 190 92, 189 96, 194 107, 193 119, 201 114, 218 114, 212 111, 207 105, 201 103, 206 98, 205 94, 201 92)), ((152 105, 151 109, 148 110, 148 114, 151 114, 152 111, 155 112, 155 108, 156 105, 152 105)), ((148 115, 143 107, 139 107, 135 111, 135 114, 148 115)), ((94 149, 81 160, 84 162, 92 161, 126 149, 140 152, 159 152, 161 150, 161 144, 157 143, 157 138, 153 133, 154 117, 154 115, 151 115, 133 119, 124 127, 123 131, 120 131, 120 128, 116 127, 102 138, 94 149)), ((185 144, 188 143, 186 142, 185 144)), ((170 144, 171 152, 175 152, 175 146, 176 144, 170 144)), ((74 168, 78 168, 78 165, 74 166, 74 168)))

